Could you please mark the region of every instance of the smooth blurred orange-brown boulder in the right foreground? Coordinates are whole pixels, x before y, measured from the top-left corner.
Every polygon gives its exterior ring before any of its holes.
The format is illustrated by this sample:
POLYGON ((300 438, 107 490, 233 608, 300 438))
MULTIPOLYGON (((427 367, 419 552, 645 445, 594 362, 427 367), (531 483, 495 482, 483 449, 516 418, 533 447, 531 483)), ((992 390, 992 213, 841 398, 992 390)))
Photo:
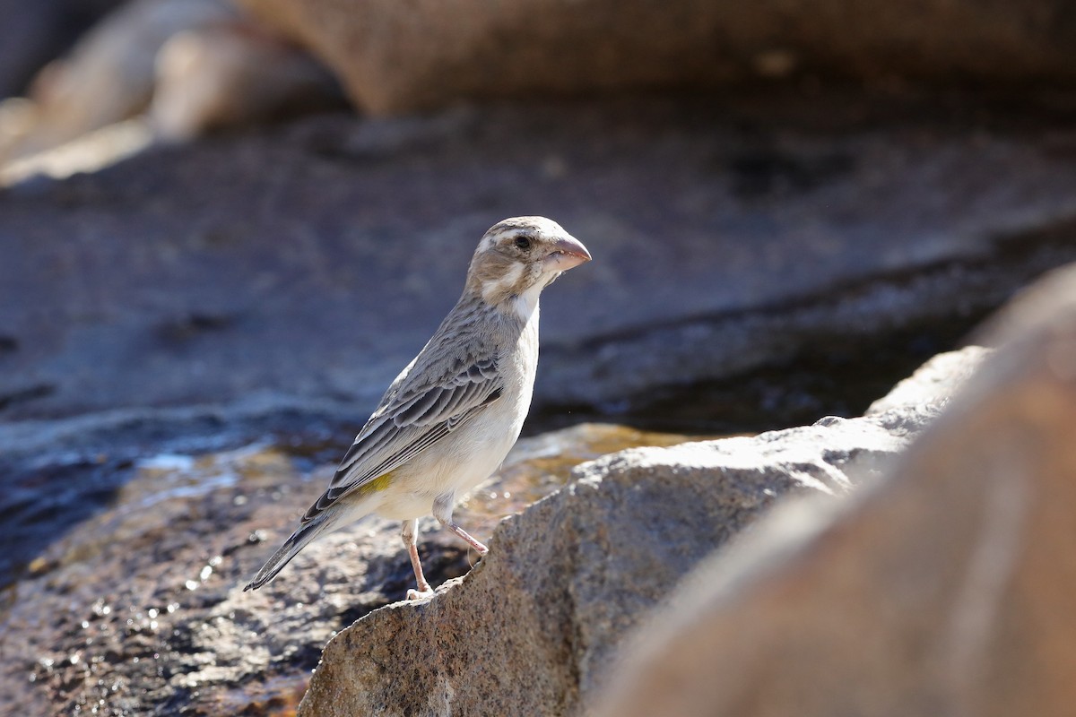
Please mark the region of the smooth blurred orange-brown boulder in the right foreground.
POLYGON ((710 561, 596 714, 1070 714, 1076 269, 993 326, 997 354, 886 483, 710 561))

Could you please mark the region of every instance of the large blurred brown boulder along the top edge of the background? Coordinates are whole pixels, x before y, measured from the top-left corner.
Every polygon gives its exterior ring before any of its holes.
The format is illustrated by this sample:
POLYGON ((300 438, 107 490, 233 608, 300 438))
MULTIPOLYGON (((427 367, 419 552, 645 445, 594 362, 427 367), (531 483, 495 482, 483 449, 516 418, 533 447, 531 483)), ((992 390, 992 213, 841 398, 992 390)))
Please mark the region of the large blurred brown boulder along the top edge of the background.
POLYGON ((1071 86, 1065 2, 751 4, 241 0, 390 114, 466 98, 719 87, 802 75, 887 83, 1071 86))

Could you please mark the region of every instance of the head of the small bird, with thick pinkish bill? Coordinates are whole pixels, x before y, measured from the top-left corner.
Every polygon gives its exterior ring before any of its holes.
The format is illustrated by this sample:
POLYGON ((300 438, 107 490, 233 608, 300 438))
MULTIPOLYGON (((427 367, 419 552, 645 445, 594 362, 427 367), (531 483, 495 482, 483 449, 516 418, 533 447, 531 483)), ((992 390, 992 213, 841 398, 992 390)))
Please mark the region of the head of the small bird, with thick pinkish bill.
POLYGON ((591 260, 582 243, 540 216, 498 221, 482 236, 467 273, 467 289, 493 305, 529 314, 538 295, 562 272, 591 260))

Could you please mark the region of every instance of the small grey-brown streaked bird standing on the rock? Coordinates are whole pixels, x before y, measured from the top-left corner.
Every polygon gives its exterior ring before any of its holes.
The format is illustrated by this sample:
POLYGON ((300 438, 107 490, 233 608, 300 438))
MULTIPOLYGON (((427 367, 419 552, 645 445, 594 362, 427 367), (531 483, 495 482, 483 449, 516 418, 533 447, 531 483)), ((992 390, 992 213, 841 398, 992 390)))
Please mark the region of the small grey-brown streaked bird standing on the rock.
POLYGON ((271 580, 315 537, 370 514, 404 521, 417 582, 411 599, 433 592, 415 545, 420 517, 433 513, 479 555, 489 553, 452 520, 452 508, 520 435, 538 367, 541 290, 590 259, 546 217, 505 219, 485 232, 459 301, 385 391, 328 490, 244 590, 271 580))

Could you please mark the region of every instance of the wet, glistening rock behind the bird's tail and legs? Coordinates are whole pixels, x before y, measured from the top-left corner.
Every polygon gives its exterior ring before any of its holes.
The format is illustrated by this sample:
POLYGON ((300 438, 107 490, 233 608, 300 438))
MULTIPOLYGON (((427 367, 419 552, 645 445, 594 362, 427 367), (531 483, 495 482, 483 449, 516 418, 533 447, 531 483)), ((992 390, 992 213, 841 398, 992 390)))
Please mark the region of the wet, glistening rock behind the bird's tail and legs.
MULTIPOLYGON (((199 456, 5 464, 0 714, 294 712, 334 631, 413 580, 399 524, 368 520, 309 546, 270 586, 242 591, 346 447, 296 436, 199 456), (47 497, 33 493, 41 485, 47 497), (82 514, 71 515, 71 500, 82 514), (53 513, 67 519, 49 522, 53 513), (13 555, 28 560, 14 576, 13 555)), ((485 536, 579 461, 683 440, 608 426, 524 439, 458 519, 485 536)), ((424 526, 430 580, 462 575, 473 556, 433 520, 424 526)))

